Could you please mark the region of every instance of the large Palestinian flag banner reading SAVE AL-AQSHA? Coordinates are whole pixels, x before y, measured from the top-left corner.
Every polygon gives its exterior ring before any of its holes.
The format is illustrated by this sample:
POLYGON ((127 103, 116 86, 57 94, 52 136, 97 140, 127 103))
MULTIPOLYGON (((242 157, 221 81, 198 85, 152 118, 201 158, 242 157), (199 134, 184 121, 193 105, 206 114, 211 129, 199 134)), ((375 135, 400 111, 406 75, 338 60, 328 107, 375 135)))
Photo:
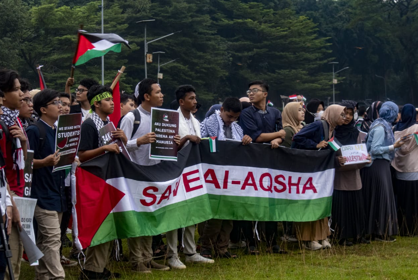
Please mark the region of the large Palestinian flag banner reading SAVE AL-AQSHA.
POLYGON ((222 157, 202 140, 184 147, 177 162, 140 166, 106 153, 83 163, 73 189, 78 248, 208 219, 302 222, 330 216, 332 151, 228 141, 219 141, 217 150, 222 157))

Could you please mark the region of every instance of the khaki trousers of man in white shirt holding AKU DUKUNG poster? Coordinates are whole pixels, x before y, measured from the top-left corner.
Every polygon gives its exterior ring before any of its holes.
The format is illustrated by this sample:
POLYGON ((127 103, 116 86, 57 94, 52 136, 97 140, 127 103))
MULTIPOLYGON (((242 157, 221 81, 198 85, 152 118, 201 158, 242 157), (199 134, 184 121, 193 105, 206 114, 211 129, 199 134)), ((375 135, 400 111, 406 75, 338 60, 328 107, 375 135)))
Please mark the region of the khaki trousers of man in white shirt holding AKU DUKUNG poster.
POLYGON ((149 263, 153 259, 152 244, 152 236, 128 238, 129 262, 131 265, 140 262, 149 263))

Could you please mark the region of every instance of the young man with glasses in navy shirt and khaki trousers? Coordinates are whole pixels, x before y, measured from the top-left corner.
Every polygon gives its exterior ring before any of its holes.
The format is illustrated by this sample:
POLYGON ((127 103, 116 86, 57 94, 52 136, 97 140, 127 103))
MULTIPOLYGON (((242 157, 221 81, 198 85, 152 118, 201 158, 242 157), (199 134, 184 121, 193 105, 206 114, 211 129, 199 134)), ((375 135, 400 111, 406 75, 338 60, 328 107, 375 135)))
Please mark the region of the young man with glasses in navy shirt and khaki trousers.
POLYGON ((34 110, 39 115, 37 123, 28 126, 26 133, 33 156, 31 197, 36 198, 34 219, 38 226, 36 246, 44 253, 35 266, 38 279, 64 279, 60 263, 60 222, 66 211, 65 170, 52 172, 59 161, 59 150, 55 151, 55 122, 62 114, 59 93, 44 89, 33 98, 34 110), (45 130, 45 139, 40 142, 40 127, 45 130))

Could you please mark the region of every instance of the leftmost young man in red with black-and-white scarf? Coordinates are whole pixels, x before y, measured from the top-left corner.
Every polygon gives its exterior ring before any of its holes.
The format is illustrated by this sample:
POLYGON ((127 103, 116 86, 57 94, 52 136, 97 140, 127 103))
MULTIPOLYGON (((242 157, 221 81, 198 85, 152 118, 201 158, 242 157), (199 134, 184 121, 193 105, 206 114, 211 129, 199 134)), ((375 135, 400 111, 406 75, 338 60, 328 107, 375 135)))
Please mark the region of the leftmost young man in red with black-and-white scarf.
MULTIPOLYGON (((2 69, 0 70, 0 90, 4 92, 3 97, 3 115, 1 120, 8 126, 10 137, 6 138, 3 132, 1 146, 6 160, 6 177, 10 185, 10 194, 13 196, 23 196, 25 187, 24 167, 27 151, 27 138, 22 129, 22 124, 18 118, 19 109, 23 105, 23 92, 19 82, 19 74, 16 71, 2 69)), ((23 244, 19 237, 16 225, 20 225, 20 215, 16 205, 13 205, 12 232, 9 236, 9 244, 12 249, 12 267, 15 279, 19 279, 20 264, 23 254, 23 244)), ((9 272, 6 273, 6 279, 10 279, 9 272)))

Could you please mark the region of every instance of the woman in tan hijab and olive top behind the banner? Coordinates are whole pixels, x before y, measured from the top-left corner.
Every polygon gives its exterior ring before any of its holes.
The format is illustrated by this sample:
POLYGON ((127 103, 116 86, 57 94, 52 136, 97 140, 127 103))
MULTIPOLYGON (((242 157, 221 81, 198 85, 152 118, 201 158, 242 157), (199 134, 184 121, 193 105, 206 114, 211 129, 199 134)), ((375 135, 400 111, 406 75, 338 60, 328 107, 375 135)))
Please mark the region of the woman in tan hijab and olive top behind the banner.
POLYGON ((281 146, 290 148, 295 133, 302 129, 301 122, 305 119, 302 102, 290 102, 286 105, 282 114, 283 130, 286 131, 285 141, 281 146))

